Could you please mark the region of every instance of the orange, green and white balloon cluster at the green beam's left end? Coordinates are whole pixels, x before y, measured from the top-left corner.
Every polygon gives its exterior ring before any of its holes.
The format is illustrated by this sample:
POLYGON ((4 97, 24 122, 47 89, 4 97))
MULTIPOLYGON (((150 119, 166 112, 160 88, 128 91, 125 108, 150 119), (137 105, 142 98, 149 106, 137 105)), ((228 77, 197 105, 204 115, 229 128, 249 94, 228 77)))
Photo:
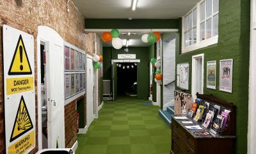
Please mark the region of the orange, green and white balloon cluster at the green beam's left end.
POLYGON ((102 33, 102 40, 104 42, 112 41, 112 45, 115 49, 121 49, 123 47, 122 39, 118 38, 119 31, 118 29, 112 29, 111 32, 104 32, 102 33))

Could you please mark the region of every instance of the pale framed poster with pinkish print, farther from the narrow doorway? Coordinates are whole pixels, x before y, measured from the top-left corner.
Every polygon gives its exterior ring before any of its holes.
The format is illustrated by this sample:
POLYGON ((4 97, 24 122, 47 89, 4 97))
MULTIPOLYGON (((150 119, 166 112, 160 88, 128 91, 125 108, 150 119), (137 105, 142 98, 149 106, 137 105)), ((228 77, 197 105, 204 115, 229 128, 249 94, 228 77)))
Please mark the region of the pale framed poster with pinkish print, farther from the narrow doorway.
POLYGON ((233 59, 220 60, 220 91, 232 93, 233 59))

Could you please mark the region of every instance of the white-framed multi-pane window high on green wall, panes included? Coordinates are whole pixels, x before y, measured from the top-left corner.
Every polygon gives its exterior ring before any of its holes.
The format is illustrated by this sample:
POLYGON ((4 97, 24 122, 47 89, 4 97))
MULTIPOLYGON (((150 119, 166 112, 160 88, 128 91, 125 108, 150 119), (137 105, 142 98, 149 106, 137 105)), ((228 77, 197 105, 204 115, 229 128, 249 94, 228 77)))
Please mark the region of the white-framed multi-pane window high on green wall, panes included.
POLYGON ((203 0, 182 17, 182 53, 218 43, 219 0, 203 0))

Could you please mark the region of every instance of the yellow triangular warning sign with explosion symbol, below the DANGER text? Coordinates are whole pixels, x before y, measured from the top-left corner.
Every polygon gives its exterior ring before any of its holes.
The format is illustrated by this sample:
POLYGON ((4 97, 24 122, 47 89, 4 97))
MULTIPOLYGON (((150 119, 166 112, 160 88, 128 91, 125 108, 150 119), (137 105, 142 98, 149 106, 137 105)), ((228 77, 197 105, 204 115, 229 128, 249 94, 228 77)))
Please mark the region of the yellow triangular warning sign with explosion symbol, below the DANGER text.
POLYGON ((19 108, 12 128, 10 142, 17 139, 33 128, 28 109, 26 107, 23 96, 20 98, 19 108))

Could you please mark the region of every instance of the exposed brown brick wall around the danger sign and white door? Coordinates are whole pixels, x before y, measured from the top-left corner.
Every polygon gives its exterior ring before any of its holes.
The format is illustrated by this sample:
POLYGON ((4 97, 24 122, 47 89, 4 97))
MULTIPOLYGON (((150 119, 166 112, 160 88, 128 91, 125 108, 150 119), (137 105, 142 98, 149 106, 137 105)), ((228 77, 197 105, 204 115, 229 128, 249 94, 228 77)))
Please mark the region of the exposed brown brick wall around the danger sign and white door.
MULTIPOLYGON (((36 36, 38 26, 44 25, 51 27, 56 30, 65 41, 85 50, 88 54, 92 55, 94 50, 93 34, 84 33, 83 15, 81 15, 79 10, 77 10, 72 3, 70 3, 69 13, 67 12, 66 7, 66 0, 0 0, 0 153, 4 153, 5 151, 3 119, 3 24, 7 24, 8 26, 12 26, 16 29, 29 33, 35 38, 35 91, 37 96, 36 36)), ((74 105, 74 103, 72 102, 70 105, 74 105)), ((74 109, 74 107, 72 107, 72 109, 74 109)), ((36 98, 36 148, 31 153, 36 153, 38 148, 37 117, 36 98)), ((72 123, 73 121, 68 122, 72 123)), ((70 125, 70 123, 66 123, 66 125, 70 125)), ((65 134, 67 134, 67 131, 70 130, 65 129, 65 134)), ((74 132, 71 134, 74 134, 74 132)), ((69 141, 68 144, 74 144, 76 141, 76 135, 73 135, 72 137, 72 139, 66 139, 69 141)))

